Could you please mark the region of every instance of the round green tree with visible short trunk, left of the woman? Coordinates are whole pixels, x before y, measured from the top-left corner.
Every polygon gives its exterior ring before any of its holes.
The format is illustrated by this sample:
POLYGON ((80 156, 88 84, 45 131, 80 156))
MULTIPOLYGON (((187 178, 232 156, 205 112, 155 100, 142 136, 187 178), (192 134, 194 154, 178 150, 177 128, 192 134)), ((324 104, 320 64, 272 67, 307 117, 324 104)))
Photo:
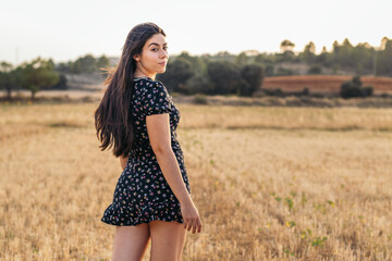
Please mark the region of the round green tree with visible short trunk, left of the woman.
POLYGON ((23 73, 24 86, 32 91, 32 99, 41 87, 56 85, 60 79, 51 60, 45 61, 40 57, 23 64, 23 73))

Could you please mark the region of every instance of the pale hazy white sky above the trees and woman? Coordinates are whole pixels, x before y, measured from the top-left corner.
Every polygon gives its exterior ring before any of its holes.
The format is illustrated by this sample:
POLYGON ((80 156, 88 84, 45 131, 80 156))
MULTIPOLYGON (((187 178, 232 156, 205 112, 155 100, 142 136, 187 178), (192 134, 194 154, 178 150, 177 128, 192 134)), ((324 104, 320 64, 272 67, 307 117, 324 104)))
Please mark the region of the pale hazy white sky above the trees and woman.
POLYGON ((391 10, 391 0, 2 0, 0 61, 120 55, 143 22, 163 28, 169 54, 275 52, 283 39, 295 51, 310 40, 317 52, 330 50, 346 37, 379 46, 392 38, 391 10))

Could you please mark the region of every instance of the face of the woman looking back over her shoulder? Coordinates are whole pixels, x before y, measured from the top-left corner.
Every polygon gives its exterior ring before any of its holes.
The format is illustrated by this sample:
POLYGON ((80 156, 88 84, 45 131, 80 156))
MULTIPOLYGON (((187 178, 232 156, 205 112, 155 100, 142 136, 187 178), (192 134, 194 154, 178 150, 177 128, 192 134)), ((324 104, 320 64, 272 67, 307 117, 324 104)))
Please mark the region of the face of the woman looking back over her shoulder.
POLYGON ((164 73, 169 60, 168 44, 162 34, 152 35, 144 45, 140 54, 135 54, 137 74, 155 79, 157 73, 164 73))

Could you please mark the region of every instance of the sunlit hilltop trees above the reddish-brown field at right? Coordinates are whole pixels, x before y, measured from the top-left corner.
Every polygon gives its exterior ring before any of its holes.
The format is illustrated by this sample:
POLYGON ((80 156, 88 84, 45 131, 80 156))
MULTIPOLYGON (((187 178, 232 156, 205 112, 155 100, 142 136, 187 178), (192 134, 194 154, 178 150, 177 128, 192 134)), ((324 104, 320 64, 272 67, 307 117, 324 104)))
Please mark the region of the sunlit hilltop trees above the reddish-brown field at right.
MULTIPOLYGON (((282 62, 305 63, 311 66, 308 74, 321 74, 322 69, 331 69, 333 74, 343 71, 356 75, 392 76, 392 39, 388 37, 383 37, 381 45, 377 48, 367 42, 353 46, 345 38, 342 44, 334 41, 331 51, 323 47, 319 54, 315 53, 316 46, 313 41, 299 53, 293 52, 294 46, 292 41, 284 40, 280 46, 281 53, 259 55, 257 60, 266 65, 282 62)), ((272 72, 272 74, 283 75, 292 73, 290 71, 272 72)))

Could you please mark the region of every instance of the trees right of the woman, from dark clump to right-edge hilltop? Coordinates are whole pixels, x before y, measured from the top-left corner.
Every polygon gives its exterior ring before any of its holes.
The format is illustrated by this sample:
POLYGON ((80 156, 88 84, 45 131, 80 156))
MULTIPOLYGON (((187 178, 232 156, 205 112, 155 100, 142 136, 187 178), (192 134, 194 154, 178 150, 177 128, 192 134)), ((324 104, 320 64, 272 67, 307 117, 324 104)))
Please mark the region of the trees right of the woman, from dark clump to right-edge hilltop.
MULTIPOLYGON (((265 77, 301 75, 304 74, 299 71, 303 66, 297 65, 305 64, 308 67, 305 74, 323 74, 327 71, 328 74, 355 75, 356 79, 342 83, 341 96, 350 98, 372 95, 371 86, 362 87, 359 84, 360 75, 392 76, 392 39, 387 37, 382 38, 379 48, 366 42, 354 47, 348 39, 344 39, 342 45, 334 41, 330 52, 323 47, 319 54, 315 52, 316 46, 311 41, 302 52, 295 53, 294 47, 294 42, 285 39, 278 53, 250 50, 237 55, 219 52, 216 55, 193 57, 183 52, 169 62, 167 72, 158 75, 158 79, 172 91, 185 95, 252 96, 261 88, 265 77)), ((265 94, 277 95, 273 90, 265 90, 265 94)), ((305 88, 297 95, 308 94, 305 88)))

